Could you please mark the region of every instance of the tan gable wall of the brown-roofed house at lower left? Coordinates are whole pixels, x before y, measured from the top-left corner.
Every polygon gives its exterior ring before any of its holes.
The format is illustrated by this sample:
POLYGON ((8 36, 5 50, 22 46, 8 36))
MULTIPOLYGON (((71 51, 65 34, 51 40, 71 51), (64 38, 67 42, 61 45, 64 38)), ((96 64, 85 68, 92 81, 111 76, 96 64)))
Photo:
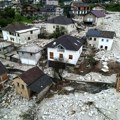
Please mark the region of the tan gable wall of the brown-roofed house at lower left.
POLYGON ((17 94, 21 95, 24 98, 30 99, 31 91, 27 88, 26 83, 21 80, 21 78, 18 77, 14 79, 13 83, 17 94), (17 83, 19 83, 19 86, 17 85, 17 83), (24 89, 22 89, 22 85, 24 85, 24 89))

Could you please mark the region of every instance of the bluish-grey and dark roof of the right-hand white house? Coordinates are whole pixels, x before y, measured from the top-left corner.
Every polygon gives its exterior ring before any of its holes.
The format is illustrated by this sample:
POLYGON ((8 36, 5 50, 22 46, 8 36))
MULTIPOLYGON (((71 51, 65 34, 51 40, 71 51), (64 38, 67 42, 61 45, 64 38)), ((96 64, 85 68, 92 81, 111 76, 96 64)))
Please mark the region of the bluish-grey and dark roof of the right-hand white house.
POLYGON ((87 37, 104 37, 113 39, 115 36, 114 31, 100 31, 98 29, 89 29, 86 33, 87 37))

